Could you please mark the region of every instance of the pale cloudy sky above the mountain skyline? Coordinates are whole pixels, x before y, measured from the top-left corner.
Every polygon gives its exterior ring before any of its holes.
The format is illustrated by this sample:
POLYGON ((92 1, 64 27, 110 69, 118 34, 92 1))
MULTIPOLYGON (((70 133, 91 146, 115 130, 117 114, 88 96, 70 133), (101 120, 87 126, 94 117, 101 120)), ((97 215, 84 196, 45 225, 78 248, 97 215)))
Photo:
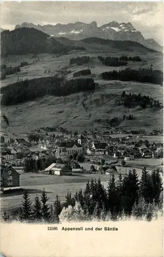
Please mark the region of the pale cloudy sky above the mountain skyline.
POLYGON ((55 25, 78 21, 96 21, 98 26, 111 21, 130 22, 145 39, 153 38, 163 45, 162 2, 1 2, 3 29, 12 30, 23 22, 55 25))

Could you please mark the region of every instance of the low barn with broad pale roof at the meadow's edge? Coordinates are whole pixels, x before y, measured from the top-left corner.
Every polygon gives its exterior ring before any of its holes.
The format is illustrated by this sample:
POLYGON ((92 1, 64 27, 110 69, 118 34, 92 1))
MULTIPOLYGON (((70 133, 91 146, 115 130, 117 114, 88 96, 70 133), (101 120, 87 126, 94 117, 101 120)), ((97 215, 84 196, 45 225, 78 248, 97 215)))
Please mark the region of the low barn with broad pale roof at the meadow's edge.
POLYGON ((71 175, 72 169, 68 164, 52 163, 48 168, 44 170, 45 173, 51 175, 71 175))

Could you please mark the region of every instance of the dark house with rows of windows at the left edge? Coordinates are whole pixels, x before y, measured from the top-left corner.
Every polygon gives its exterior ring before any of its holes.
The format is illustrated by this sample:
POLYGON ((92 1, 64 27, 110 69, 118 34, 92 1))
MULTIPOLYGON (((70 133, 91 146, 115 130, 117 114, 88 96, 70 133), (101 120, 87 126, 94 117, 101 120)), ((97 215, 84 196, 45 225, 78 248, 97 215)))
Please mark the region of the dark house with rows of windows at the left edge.
POLYGON ((20 188, 20 174, 10 165, 1 164, 1 184, 4 190, 20 188))

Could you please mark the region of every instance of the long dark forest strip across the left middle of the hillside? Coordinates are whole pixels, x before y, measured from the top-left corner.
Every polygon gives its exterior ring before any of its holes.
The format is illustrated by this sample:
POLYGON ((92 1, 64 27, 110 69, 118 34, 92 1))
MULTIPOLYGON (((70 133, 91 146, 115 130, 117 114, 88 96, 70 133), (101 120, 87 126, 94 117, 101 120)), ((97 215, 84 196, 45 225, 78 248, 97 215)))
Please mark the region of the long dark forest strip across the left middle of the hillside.
POLYGON ((94 90, 93 79, 72 79, 46 77, 19 81, 1 88, 2 104, 12 105, 42 98, 45 95, 67 96, 85 90, 94 90))

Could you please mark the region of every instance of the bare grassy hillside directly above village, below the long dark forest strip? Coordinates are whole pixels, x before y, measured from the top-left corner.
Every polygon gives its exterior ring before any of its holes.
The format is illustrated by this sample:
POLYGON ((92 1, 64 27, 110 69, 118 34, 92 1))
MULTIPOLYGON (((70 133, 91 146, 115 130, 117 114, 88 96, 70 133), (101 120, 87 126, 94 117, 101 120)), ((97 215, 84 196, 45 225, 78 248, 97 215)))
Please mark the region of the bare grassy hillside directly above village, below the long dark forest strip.
MULTIPOLYGON (((97 81, 96 81, 97 82, 97 81)), ((85 91, 65 97, 45 96, 43 99, 1 106, 2 114, 9 119, 8 132, 24 133, 37 127, 62 126, 68 130, 90 130, 110 127, 114 117, 121 120, 118 127, 126 130, 150 130, 162 127, 162 109, 127 108, 116 105, 122 91, 149 95, 162 102, 162 87, 137 82, 99 81, 95 91, 85 91), (123 115, 133 114, 135 120, 122 120, 123 115)), ((3 127, 2 127, 3 128, 3 127)), ((104 128, 105 129, 105 128, 104 128)))

